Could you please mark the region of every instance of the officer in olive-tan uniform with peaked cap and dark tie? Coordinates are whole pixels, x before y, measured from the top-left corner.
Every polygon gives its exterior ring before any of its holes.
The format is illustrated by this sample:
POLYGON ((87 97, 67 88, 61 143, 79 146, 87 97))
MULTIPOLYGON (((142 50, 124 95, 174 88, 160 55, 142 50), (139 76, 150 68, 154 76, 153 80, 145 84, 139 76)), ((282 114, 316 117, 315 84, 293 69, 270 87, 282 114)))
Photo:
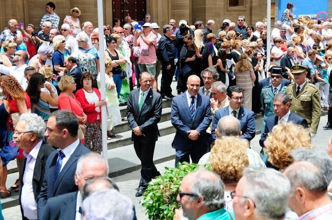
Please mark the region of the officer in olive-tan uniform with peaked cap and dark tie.
POLYGON ((320 120, 320 95, 318 88, 307 82, 307 66, 293 65, 295 83, 286 88, 291 102, 291 111, 305 118, 311 133, 316 134, 320 120))

